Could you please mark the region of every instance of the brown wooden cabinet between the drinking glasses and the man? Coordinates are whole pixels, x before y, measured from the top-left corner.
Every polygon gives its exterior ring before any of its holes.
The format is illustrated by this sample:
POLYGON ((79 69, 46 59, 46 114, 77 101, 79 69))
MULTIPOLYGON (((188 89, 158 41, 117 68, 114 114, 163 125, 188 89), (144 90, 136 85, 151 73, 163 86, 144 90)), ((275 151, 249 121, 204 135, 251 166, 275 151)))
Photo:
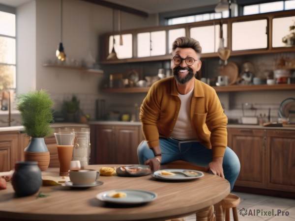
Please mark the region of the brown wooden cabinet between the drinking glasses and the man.
POLYGON ((90 125, 90 131, 91 164, 138 164, 140 126, 90 125))

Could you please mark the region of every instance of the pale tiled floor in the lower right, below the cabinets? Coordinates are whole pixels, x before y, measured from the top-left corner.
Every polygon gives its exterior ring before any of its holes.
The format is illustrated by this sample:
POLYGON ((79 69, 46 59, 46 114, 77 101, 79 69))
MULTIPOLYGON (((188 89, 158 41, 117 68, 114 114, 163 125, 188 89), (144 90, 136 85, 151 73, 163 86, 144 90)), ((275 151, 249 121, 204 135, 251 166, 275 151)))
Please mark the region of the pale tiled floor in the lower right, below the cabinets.
MULTIPOLYGON (((295 221, 295 199, 249 193, 234 194, 241 199, 237 207, 239 221, 295 221), (245 212, 247 215, 244 215, 245 212)), ((233 220, 231 210, 231 221, 233 220)), ((186 221, 196 221, 196 216, 191 215, 186 221)))

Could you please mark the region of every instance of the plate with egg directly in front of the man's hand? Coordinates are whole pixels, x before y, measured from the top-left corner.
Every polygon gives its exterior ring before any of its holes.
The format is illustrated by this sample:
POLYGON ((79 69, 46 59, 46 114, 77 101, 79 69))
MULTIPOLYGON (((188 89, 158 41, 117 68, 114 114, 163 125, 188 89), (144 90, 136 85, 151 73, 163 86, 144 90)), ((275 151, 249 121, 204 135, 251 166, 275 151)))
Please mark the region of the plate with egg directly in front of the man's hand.
POLYGON ((161 179, 161 180, 193 180, 193 179, 198 179, 200 177, 204 176, 204 173, 202 171, 198 171, 198 170, 192 170, 192 169, 161 169, 161 170, 157 170, 155 171, 152 176, 156 179, 161 179), (175 175, 162 175, 162 170, 168 171, 168 172, 191 172, 194 175, 190 175, 190 176, 185 176, 184 174, 179 174, 179 173, 175 173, 175 175))

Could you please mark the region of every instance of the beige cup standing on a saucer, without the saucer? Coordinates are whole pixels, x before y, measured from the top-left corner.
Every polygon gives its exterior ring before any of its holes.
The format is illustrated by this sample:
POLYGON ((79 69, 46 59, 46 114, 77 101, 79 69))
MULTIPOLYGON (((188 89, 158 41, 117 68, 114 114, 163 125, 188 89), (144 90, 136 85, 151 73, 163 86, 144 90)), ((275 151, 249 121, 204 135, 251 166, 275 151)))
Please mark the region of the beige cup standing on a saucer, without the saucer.
POLYGON ((70 170, 69 176, 74 185, 92 184, 98 180, 99 172, 94 169, 70 170))

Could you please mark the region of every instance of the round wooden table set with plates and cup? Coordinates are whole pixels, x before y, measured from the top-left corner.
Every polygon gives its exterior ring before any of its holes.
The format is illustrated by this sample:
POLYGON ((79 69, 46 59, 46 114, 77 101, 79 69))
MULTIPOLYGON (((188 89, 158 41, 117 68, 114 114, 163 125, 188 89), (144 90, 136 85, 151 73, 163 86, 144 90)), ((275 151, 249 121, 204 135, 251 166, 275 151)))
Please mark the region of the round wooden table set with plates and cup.
MULTIPOLYGON (((89 165, 99 170, 106 165, 89 165)), ((115 165, 108 165, 115 166, 115 165)), ((48 168, 42 175, 59 176, 59 168, 48 168)), ((164 221, 188 216, 213 205, 230 193, 229 182, 216 175, 190 181, 160 181, 142 177, 100 176, 101 186, 88 189, 42 186, 38 193, 17 197, 11 186, 0 191, 1 221, 164 221), (98 193, 114 189, 137 189, 157 193, 147 204, 111 205, 98 200, 98 193)))

